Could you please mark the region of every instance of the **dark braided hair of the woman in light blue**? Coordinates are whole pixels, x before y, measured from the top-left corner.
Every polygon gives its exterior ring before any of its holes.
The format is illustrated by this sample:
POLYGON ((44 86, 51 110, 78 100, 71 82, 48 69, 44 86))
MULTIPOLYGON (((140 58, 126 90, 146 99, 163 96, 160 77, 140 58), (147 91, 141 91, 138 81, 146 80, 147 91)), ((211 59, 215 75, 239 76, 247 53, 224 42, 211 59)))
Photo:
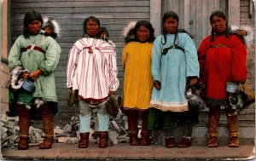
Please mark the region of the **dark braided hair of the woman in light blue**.
MULTIPOLYGON (((176 12, 174 11, 167 11, 164 16, 163 16, 163 20, 162 20, 162 34, 164 36, 164 42, 163 40, 161 41, 162 44, 166 44, 166 34, 167 32, 165 31, 165 22, 168 18, 172 17, 172 19, 174 20, 177 20, 177 24, 178 24, 178 16, 176 14, 176 12)), ((174 37, 174 43, 176 42, 176 39, 177 39, 177 29, 176 29, 176 32, 175 32, 175 37, 174 37)))

